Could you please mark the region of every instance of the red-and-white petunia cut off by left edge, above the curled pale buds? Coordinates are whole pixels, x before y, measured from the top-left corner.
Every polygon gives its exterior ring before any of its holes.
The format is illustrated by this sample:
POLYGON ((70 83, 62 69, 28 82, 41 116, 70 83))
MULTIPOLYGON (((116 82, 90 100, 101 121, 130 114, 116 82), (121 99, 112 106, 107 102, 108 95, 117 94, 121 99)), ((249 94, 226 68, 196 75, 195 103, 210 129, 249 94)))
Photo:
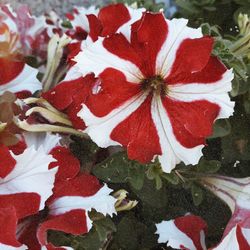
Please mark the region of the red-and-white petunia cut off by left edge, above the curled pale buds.
POLYGON ((0 94, 10 91, 17 94, 34 93, 42 88, 37 80, 37 69, 22 61, 0 58, 0 94))

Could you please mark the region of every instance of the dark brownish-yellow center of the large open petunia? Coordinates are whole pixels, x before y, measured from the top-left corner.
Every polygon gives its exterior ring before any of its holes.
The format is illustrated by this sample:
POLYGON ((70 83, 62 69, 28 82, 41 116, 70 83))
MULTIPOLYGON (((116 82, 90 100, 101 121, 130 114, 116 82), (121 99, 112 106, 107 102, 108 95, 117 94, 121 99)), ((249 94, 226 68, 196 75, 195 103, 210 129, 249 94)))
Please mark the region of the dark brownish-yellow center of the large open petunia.
POLYGON ((143 90, 154 92, 161 96, 167 95, 168 92, 166 82, 160 75, 143 79, 141 81, 141 86, 143 90))

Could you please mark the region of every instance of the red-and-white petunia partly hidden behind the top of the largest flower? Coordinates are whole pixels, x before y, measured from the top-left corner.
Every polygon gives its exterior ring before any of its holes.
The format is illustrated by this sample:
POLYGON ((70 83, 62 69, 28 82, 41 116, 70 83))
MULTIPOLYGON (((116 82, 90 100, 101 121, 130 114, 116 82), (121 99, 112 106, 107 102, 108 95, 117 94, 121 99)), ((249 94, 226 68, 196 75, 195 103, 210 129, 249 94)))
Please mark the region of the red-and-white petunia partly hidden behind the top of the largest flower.
POLYGON ((98 36, 105 37, 113 33, 122 33, 129 37, 130 26, 142 17, 144 11, 144 8, 135 9, 118 3, 100 10, 93 6, 88 9, 75 7, 73 14, 69 13, 67 17, 73 26, 72 38, 80 41, 87 38, 88 44, 96 41, 98 36))

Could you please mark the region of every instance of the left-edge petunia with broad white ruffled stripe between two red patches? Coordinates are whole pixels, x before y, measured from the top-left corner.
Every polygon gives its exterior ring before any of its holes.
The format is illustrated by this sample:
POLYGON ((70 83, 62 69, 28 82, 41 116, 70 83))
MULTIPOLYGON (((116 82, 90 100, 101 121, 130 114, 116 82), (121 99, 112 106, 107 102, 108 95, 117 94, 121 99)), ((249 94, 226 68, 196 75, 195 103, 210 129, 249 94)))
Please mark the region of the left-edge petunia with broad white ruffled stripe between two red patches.
POLYGON ((13 206, 18 219, 42 210, 54 187, 57 167, 49 169, 53 161, 43 147, 14 155, 1 145, 0 208, 13 206))

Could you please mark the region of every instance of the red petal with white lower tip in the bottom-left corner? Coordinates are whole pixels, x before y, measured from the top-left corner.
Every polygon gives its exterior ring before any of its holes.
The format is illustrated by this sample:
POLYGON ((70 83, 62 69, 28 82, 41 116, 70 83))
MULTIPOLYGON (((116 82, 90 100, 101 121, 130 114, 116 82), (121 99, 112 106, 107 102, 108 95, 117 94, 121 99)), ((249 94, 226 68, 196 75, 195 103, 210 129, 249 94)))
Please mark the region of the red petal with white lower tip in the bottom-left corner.
POLYGON ((25 250, 28 249, 16 238, 17 215, 12 206, 0 208, 0 249, 25 250))

